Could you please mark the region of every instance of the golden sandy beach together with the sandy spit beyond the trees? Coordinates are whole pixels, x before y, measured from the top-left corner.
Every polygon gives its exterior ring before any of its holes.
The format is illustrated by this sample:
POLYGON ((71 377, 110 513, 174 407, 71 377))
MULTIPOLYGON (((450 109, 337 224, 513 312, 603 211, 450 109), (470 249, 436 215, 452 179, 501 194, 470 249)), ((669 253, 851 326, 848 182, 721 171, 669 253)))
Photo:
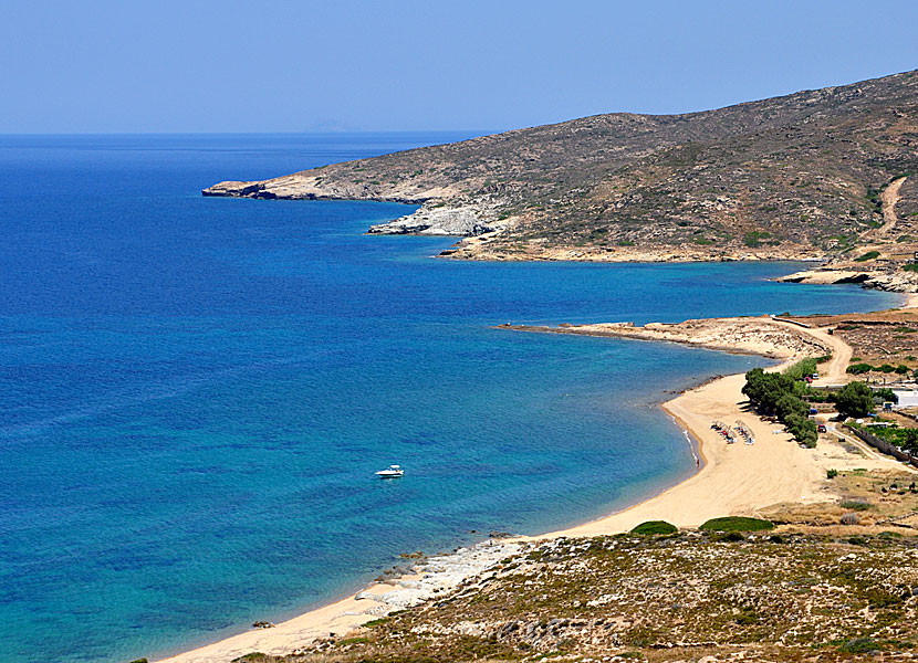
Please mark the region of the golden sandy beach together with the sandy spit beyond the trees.
MULTIPOLYGON (((907 306, 918 304, 911 296, 907 306)), ((782 366, 806 356, 831 350, 832 360, 821 366, 820 382, 844 381, 851 348, 825 329, 804 329, 769 318, 727 318, 720 328, 699 323, 690 333, 696 345, 754 352, 784 360, 782 366), (732 335, 732 336, 731 336, 732 335)), ((681 332, 674 326, 647 328, 617 326, 616 330, 590 326, 601 336, 630 336, 653 340, 675 340, 681 332), (647 332, 644 332, 647 329, 647 332), (618 332, 623 332, 618 334, 618 332)), ((613 326, 616 327, 616 326, 613 326)), ((689 325, 691 328, 691 325, 689 325)), ((546 329, 539 329, 546 330, 546 329)), ((588 333, 581 327, 563 333, 588 333), (580 329, 581 332, 577 332, 580 329)), ((778 367, 780 368, 780 367, 778 367)), ((597 536, 626 532, 645 520, 664 519, 679 527, 697 527, 724 515, 757 515, 782 503, 809 504, 833 499, 826 470, 904 470, 894 459, 882 456, 856 440, 846 440, 852 453, 826 436, 816 449, 803 449, 780 424, 760 419, 748 410, 741 390, 743 375, 718 378, 666 402, 663 408, 692 436, 700 454, 700 471, 688 480, 609 516, 538 537, 494 540, 424 560, 417 573, 388 582, 377 582, 351 597, 313 610, 270 629, 255 629, 188 651, 160 663, 228 663, 250 652, 291 653, 317 638, 343 636, 361 624, 393 610, 417 604, 474 577, 495 561, 519 551, 525 541, 561 536, 597 536), (728 445, 711 429, 713 421, 734 425, 741 421, 754 436, 754 444, 738 441, 728 445)), ((834 433, 833 424, 830 433, 834 433)), ((841 433, 839 433, 841 434, 841 433)))

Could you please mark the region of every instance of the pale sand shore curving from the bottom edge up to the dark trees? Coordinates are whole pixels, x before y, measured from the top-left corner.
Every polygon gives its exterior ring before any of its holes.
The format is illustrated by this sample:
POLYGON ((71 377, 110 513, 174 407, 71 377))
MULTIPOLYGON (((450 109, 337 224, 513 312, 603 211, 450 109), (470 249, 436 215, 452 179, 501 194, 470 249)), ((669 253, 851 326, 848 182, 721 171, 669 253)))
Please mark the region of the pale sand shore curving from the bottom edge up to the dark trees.
MULTIPOLYGON (((904 306, 916 304, 918 297, 911 296, 907 297, 904 306)), ((822 340, 831 338, 815 329, 805 334, 822 340)), ((833 343, 841 341, 835 337, 833 343)), ((760 354, 775 356, 772 352, 760 354)), ((795 357, 785 354, 784 359, 790 361, 795 357)), ((712 517, 754 515, 779 503, 824 502, 830 497, 825 493, 825 471, 830 467, 901 469, 895 460, 853 455, 830 443, 823 443, 815 450, 801 449, 790 435, 776 433, 773 424, 744 411, 743 381, 743 373, 708 380, 660 404, 693 441, 692 451, 697 450, 699 460, 698 470, 675 485, 620 511, 565 529, 532 537, 483 541, 460 548, 450 556, 430 558, 416 567, 415 575, 374 582, 344 599, 310 610, 274 628, 244 631, 160 659, 157 663, 228 663, 254 651, 289 654, 319 638, 330 634, 343 636, 372 619, 449 590, 484 570, 489 559, 497 561, 512 555, 530 541, 617 534, 651 519, 665 519, 678 527, 697 527, 712 517), (716 419, 732 424, 734 418, 743 418, 755 436, 755 444, 727 445, 709 427, 710 421, 716 419)))

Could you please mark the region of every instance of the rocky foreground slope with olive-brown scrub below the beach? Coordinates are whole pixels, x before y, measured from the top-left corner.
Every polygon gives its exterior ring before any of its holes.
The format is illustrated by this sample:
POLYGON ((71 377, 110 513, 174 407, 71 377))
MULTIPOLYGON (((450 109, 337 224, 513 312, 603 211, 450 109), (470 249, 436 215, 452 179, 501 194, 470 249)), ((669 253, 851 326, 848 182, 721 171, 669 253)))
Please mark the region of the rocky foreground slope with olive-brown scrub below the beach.
POLYGON ((343 639, 237 663, 911 660, 917 555, 888 533, 559 539, 343 639))

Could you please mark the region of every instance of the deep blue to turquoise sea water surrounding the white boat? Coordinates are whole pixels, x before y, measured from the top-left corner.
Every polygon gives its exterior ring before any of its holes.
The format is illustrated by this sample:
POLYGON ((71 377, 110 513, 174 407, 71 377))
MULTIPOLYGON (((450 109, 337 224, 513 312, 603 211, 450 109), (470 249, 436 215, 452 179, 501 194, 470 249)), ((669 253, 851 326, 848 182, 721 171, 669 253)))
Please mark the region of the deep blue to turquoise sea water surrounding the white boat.
POLYGON ((0 660, 153 657, 608 513, 693 469, 667 390, 761 365, 492 325, 897 302, 786 263, 431 260, 362 234, 403 206, 199 194, 462 137, 0 137, 0 660))

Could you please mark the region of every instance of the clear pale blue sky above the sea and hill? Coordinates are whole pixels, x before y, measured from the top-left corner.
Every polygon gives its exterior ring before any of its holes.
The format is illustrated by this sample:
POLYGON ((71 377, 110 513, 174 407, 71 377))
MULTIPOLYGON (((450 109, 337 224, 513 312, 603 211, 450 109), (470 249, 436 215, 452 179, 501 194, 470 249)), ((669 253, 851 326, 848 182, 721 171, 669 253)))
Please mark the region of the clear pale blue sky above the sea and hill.
POLYGON ((508 129, 918 67, 918 2, 0 0, 0 133, 508 129))

